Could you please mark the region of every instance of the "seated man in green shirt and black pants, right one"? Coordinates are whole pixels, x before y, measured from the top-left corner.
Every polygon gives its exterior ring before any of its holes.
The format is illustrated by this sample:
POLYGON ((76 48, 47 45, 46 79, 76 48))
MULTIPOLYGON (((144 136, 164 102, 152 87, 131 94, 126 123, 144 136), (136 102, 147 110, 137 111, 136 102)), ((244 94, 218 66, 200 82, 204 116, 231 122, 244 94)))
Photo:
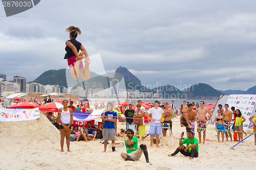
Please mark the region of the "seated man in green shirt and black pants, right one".
POLYGON ((188 131, 188 137, 183 139, 183 134, 180 135, 179 147, 176 151, 168 156, 175 156, 179 152, 184 156, 189 156, 189 159, 193 159, 194 157, 198 157, 199 147, 198 140, 195 138, 194 131, 188 131), (183 145, 186 143, 186 147, 183 145))

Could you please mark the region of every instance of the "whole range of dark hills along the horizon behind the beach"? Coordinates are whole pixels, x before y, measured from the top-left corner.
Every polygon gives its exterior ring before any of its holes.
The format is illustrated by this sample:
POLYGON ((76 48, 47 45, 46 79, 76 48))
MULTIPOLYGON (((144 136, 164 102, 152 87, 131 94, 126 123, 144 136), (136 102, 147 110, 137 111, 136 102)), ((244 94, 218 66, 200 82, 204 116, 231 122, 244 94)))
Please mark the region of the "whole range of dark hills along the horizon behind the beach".
MULTIPOLYGON (((209 86, 208 84, 199 83, 190 86, 185 91, 180 91, 173 85, 163 85, 154 89, 148 89, 147 87, 141 85, 141 81, 132 74, 125 67, 118 67, 112 78, 106 76, 100 76, 95 72, 90 71, 90 79, 84 81, 86 87, 94 88, 109 88, 109 83, 115 79, 124 79, 125 86, 127 90, 139 90, 140 92, 153 92, 156 93, 157 90, 162 91, 163 98, 180 98, 182 94, 186 94, 188 99, 205 99, 205 98, 216 98, 220 94, 256 94, 256 86, 249 88, 247 91, 243 90, 216 90, 209 86)), ((68 88, 66 80, 66 69, 59 70, 48 70, 36 78, 34 83, 40 83, 42 85, 59 85, 68 88)), ((81 82, 81 81, 80 81, 81 82)), ((76 81, 72 80, 72 85, 69 86, 82 86, 82 82, 77 85, 76 81)))

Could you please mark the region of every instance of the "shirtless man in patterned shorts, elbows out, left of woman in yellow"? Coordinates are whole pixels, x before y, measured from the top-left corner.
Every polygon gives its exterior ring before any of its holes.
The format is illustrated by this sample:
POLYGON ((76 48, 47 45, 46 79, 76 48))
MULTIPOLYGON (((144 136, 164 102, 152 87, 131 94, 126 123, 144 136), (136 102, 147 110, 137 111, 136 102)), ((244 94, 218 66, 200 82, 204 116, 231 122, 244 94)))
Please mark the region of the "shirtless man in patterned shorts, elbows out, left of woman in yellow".
POLYGON ((198 116, 196 117, 197 120, 197 132, 199 137, 199 143, 201 143, 201 131, 203 131, 203 144, 206 137, 206 122, 211 118, 212 114, 211 112, 204 108, 204 101, 200 102, 200 108, 196 110, 196 113, 198 113, 198 116), (208 113, 210 116, 207 118, 206 113, 208 113))

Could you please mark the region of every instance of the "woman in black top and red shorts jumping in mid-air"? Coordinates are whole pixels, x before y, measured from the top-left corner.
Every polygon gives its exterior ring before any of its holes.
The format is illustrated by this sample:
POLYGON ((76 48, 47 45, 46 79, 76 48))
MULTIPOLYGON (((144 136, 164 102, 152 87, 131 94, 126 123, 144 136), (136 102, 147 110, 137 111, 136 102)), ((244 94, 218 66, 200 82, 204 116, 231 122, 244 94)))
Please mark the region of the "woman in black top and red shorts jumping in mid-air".
POLYGON ((67 53, 64 59, 68 59, 70 74, 74 80, 77 80, 80 74, 82 79, 86 81, 90 78, 89 65, 91 60, 86 48, 76 40, 77 35, 81 34, 81 30, 78 27, 70 26, 66 28, 66 32, 69 32, 70 40, 66 41, 65 51, 67 53), (80 50, 81 53, 78 54, 80 50), (85 66, 82 63, 83 58, 85 66))

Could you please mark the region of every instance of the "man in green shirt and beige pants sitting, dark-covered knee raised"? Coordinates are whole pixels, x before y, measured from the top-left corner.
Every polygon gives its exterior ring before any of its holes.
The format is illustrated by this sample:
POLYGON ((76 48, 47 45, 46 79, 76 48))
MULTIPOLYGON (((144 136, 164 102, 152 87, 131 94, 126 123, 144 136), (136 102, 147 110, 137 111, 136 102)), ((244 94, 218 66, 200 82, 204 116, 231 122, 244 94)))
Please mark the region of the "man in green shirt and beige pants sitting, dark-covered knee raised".
POLYGON ((134 137, 134 131, 132 129, 127 129, 127 131, 125 132, 125 130, 121 129, 121 134, 124 138, 124 143, 127 152, 126 154, 122 152, 121 157, 125 161, 137 161, 140 159, 143 153, 146 159, 146 163, 151 164, 151 162, 148 159, 146 145, 143 143, 140 145, 140 147, 138 147, 138 139, 134 137))

